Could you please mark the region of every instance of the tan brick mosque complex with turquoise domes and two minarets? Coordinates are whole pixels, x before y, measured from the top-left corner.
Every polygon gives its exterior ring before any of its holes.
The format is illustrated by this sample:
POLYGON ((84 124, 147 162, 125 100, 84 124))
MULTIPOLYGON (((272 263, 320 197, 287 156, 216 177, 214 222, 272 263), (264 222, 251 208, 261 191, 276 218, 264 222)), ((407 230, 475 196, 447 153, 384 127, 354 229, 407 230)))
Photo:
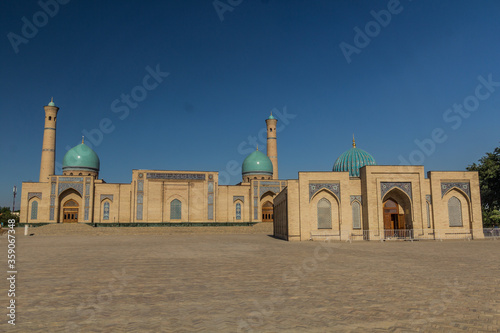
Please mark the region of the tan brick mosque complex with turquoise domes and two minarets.
POLYGON ((132 170, 130 183, 99 179, 98 155, 84 141, 55 174, 53 101, 44 106, 40 178, 23 182, 20 222, 134 225, 274 223, 274 236, 380 240, 449 235, 482 238, 477 172, 429 171, 422 165, 377 165, 357 148, 342 153, 332 171, 279 179, 276 119, 266 119, 267 154, 242 164, 242 181, 219 185, 218 172, 132 170))

